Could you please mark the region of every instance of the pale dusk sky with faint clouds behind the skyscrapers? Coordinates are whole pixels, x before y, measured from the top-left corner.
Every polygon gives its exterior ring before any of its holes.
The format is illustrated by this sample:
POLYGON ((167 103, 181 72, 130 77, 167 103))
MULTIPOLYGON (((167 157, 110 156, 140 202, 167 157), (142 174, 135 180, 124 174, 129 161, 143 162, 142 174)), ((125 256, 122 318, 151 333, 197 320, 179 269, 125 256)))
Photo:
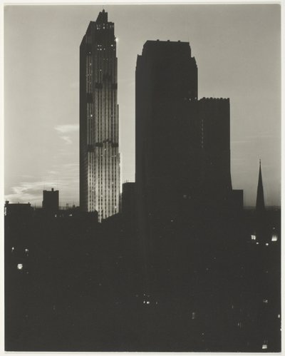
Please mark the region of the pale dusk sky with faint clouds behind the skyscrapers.
POLYGON ((38 207, 43 189, 79 203, 79 46, 108 12, 118 38, 122 182, 135 180, 135 63, 147 40, 189 41, 198 97, 230 98, 231 170, 255 205, 281 200, 281 8, 278 4, 4 7, 4 190, 38 207))

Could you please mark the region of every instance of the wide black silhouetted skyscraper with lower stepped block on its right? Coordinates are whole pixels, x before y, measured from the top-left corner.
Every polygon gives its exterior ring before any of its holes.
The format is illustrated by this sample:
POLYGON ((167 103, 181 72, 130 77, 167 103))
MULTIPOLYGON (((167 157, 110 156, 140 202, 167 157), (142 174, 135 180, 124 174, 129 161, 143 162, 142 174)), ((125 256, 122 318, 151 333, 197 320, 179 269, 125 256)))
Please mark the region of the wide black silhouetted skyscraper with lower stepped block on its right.
POLYGON ((147 41, 135 84, 140 225, 226 207, 232 198, 229 99, 197 99, 188 42, 147 41), (187 202, 187 203, 186 203, 187 202))

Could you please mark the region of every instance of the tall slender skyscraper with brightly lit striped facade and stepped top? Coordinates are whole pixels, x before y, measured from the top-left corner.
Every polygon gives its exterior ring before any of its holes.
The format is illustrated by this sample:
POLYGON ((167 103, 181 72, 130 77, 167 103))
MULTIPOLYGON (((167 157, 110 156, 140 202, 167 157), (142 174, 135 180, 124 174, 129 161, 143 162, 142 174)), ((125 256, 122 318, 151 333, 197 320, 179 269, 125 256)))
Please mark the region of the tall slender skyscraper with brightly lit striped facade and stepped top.
POLYGON ((117 68, 114 24, 103 10, 80 46, 80 205, 99 221, 119 211, 117 68))

